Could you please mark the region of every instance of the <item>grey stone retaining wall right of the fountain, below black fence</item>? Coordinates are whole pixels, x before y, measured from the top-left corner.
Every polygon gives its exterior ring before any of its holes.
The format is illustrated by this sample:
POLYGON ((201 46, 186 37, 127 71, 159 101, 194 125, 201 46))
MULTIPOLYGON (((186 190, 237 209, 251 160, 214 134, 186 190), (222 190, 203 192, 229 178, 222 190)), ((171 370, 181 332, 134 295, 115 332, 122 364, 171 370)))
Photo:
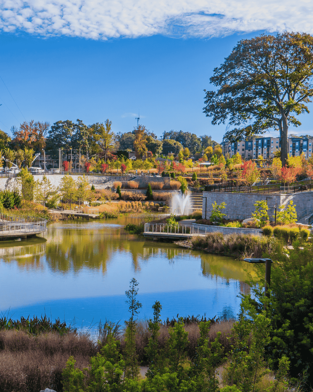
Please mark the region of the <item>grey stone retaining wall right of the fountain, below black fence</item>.
POLYGON ((255 212, 254 203, 257 200, 266 200, 268 198, 268 215, 273 220, 272 215, 275 214, 275 209, 270 207, 277 207, 285 205, 287 207, 292 200, 293 205, 297 211, 298 219, 303 218, 301 212, 305 209, 313 207, 313 192, 298 192, 291 194, 264 194, 264 193, 227 193, 227 192, 203 192, 202 200, 202 218, 208 219, 212 211, 212 203, 216 201, 221 204, 226 203, 226 208, 223 213, 228 219, 247 219, 251 217, 252 212, 255 212), (205 197, 207 198, 207 211, 205 211, 205 197))

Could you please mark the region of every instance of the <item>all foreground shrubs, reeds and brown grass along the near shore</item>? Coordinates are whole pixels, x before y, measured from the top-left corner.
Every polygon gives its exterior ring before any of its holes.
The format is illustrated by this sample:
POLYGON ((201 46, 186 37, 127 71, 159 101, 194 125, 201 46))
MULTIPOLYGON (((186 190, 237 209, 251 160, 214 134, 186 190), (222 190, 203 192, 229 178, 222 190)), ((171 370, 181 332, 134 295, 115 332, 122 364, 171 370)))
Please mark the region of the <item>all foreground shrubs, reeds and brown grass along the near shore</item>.
POLYGON ((304 347, 302 330, 309 322, 309 309, 297 302, 302 296, 309 300, 305 287, 313 279, 311 246, 297 239, 296 249, 287 250, 287 255, 282 245, 275 243, 270 297, 264 297, 264 265, 256 265, 256 278, 250 277, 249 282, 254 298, 241 294, 236 319, 177 314, 162 321, 158 301, 152 306, 153 318, 139 319, 142 304, 134 278, 125 292, 130 318, 124 327, 120 322, 99 321, 96 339, 90 330, 79 333, 74 325, 67 326, 59 319, 53 323, 46 316, 21 320, 2 317, 0 390, 309 391, 312 358, 304 352, 311 348, 312 331, 308 331, 309 341, 304 347), (283 285, 282 274, 286 276, 283 285), (290 292, 290 279, 297 295, 290 292), (295 308, 292 314, 284 311, 286 301, 290 309, 295 308), (302 359, 300 367, 298 358, 302 359), (145 377, 140 375, 140 366, 145 367, 145 377))

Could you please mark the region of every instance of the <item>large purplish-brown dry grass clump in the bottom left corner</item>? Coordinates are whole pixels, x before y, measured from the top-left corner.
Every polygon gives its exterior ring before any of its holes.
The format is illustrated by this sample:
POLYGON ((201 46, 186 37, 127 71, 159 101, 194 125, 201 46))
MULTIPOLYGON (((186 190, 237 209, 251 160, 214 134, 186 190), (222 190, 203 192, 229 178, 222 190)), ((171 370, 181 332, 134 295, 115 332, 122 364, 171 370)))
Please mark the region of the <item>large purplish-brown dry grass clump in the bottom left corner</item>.
POLYGON ((88 336, 23 331, 0 332, 0 390, 29 392, 52 388, 61 391, 62 370, 70 355, 77 367, 88 367, 97 347, 88 336))

